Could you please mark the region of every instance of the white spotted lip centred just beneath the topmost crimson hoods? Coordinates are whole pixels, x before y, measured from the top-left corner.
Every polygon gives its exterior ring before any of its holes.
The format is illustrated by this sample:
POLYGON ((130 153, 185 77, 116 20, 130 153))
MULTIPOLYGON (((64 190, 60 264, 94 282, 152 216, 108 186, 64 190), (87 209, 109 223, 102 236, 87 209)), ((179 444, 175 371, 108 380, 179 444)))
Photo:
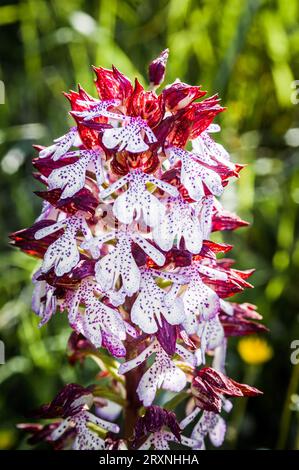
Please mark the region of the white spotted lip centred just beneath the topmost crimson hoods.
POLYGON ((118 147, 118 152, 122 150, 132 153, 145 152, 149 146, 144 141, 144 134, 150 144, 157 141, 146 121, 140 117, 129 117, 124 121, 123 127, 105 129, 102 142, 107 149, 118 147))

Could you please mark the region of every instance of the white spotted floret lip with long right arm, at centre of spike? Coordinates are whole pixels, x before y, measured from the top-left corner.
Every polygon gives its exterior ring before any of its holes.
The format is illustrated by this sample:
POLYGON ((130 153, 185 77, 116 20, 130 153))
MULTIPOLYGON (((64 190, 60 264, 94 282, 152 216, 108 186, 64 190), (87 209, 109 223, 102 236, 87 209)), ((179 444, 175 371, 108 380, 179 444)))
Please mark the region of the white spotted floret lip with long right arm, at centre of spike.
MULTIPOLYGON (((95 276, 103 292, 115 290, 119 277, 122 280, 123 292, 131 296, 140 286, 141 274, 132 255, 132 242, 139 247, 159 266, 165 262, 164 255, 145 238, 137 233, 119 230, 110 233, 111 238, 116 238, 117 243, 113 251, 103 256, 95 265, 95 276)), ((105 237, 108 240, 108 236, 105 237)), ((85 245, 86 246, 86 243, 85 245)))

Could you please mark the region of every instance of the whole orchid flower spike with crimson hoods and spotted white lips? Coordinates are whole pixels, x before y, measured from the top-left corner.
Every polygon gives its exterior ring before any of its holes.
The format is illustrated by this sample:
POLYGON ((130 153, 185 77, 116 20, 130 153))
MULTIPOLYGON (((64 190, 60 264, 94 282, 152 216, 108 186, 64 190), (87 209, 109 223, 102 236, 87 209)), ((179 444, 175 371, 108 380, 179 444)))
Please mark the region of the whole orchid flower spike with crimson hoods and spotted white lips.
POLYGON ((209 437, 219 446, 226 397, 261 393, 224 371, 227 337, 265 330, 254 306, 226 300, 252 287, 253 270, 233 268, 218 256, 232 247, 210 240, 247 225, 217 199, 242 165, 214 140, 217 95, 203 99, 201 87, 179 80, 156 93, 167 58, 165 50, 150 64, 149 90, 95 67, 98 98, 81 86, 67 93, 75 125, 35 146, 43 209, 12 243, 41 259, 32 303, 40 325, 68 315, 70 363, 93 357, 101 372, 96 385, 68 384, 35 413, 52 423, 20 425, 32 443, 203 449, 209 437), (155 404, 160 389, 185 400, 180 424, 175 405, 155 404))

